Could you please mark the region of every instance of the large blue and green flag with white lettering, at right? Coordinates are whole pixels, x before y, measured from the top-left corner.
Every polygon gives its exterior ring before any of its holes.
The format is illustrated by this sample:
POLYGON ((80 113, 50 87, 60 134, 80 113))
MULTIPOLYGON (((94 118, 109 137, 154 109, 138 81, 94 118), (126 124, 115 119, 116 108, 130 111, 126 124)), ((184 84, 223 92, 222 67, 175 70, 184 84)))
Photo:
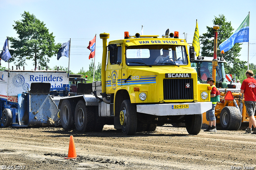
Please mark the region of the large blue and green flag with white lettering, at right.
POLYGON ((249 14, 230 38, 220 44, 220 51, 224 50, 224 52, 226 52, 230 50, 235 43, 240 42, 249 42, 249 14))

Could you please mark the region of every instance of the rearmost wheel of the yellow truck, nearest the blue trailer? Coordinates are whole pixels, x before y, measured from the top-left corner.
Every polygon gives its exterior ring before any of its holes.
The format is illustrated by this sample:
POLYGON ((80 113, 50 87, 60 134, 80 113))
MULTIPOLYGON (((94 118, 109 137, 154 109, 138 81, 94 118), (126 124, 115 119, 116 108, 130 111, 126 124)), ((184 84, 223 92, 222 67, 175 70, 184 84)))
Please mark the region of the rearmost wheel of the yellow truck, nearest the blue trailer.
POLYGON ((65 99, 60 106, 60 123, 64 130, 70 130, 74 125, 75 103, 65 99))

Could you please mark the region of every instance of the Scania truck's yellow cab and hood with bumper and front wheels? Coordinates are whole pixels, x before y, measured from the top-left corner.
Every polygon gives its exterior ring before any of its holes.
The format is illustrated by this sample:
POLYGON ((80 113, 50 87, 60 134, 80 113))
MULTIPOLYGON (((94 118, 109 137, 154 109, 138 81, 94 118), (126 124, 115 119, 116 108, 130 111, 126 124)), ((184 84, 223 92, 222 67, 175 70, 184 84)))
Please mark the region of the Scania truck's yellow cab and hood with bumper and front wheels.
POLYGON ((179 39, 178 32, 162 38, 125 32, 123 40, 107 45, 108 37, 100 34, 105 48, 101 94, 112 107, 115 128, 134 134, 136 127, 138 131, 158 122, 182 122, 190 134, 198 134, 202 113, 211 102, 208 84, 198 84, 196 70, 190 66, 194 48, 179 39))

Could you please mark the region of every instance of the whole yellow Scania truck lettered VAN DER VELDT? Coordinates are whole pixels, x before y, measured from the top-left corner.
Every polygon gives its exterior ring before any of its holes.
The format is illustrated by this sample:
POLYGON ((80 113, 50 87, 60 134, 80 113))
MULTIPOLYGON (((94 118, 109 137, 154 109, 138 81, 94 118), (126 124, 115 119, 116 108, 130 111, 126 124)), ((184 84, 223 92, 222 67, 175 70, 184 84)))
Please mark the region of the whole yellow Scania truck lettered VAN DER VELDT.
POLYGON ((198 84, 190 66, 194 47, 178 32, 159 36, 130 36, 103 41, 102 81, 78 85, 76 96, 63 97, 58 105, 62 127, 101 131, 114 125, 124 134, 154 131, 158 123, 185 123, 189 134, 198 134, 202 113, 212 108, 210 86, 198 84), (83 93, 92 87, 92 93, 83 93))

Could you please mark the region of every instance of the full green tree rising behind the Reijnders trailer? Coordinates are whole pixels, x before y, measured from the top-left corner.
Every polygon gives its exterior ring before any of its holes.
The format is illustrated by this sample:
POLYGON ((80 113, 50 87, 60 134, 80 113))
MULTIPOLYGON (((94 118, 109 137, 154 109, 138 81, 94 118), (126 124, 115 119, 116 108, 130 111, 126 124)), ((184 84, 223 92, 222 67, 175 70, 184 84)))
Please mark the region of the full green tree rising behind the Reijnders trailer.
POLYGON ((54 43, 53 33, 49 34, 49 30, 45 27, 44 22, 38 20, 33 14, 24 12, 21 15, 22 20, 14 21, 14 30, 18 34, 18 38, 10 37, 10 53, 16 65, 25 65, 26 60, 32 59, 35 67, 39 63, 46 67, 50 61, 50 57, 58 53, 60 43, 54 43))

